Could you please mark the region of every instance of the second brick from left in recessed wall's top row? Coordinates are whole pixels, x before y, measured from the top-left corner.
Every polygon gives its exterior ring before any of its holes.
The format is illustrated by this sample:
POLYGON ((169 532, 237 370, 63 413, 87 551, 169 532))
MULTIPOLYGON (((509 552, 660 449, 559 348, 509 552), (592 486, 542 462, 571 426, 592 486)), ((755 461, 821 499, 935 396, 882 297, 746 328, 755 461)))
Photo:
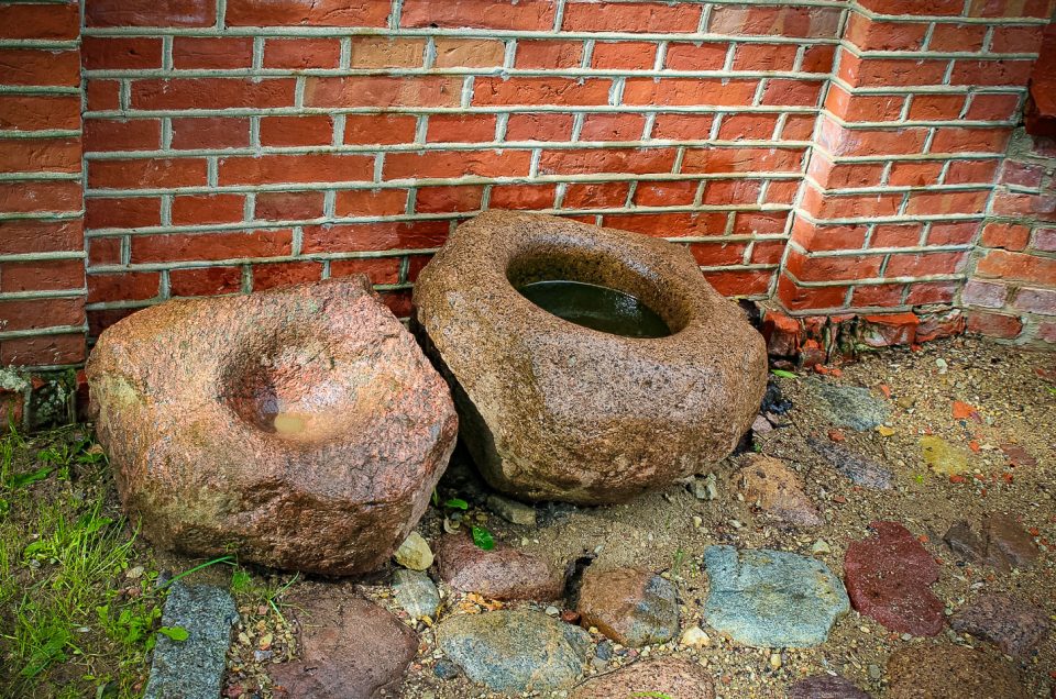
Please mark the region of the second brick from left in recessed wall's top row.
POLYGON ((228 26, 385 26, 386 0, 229 0, 228 26))

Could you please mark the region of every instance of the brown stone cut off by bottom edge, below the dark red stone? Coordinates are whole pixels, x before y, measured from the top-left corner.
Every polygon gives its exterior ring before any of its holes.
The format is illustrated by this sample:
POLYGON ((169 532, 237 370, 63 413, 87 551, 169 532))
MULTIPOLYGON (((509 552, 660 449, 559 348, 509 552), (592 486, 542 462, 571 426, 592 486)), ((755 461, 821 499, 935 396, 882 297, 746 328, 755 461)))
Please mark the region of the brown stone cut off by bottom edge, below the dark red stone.
POLYGON ((902 648, 888 659, 884 699, 1022 699, 1028 696, 1009 665, 960 645, 902 648))

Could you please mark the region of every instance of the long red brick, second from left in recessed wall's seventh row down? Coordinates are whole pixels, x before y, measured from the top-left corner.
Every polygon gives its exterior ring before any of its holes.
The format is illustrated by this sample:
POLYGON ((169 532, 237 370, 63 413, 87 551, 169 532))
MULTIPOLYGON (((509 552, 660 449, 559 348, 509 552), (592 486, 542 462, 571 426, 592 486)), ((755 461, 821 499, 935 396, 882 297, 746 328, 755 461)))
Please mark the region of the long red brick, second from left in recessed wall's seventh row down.
POLYGON ((133 235, 132 264, 282 257, 292 245, 284 230, 133 235))

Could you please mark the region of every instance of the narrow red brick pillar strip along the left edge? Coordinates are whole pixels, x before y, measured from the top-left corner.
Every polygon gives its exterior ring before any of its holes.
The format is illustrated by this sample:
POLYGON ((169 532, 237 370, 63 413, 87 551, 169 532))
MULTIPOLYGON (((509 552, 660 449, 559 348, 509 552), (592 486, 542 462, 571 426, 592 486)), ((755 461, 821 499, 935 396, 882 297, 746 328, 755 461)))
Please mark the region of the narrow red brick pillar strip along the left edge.
POLYGON ((0 4, 0 366, 85 357, 80 15, 0 4))

